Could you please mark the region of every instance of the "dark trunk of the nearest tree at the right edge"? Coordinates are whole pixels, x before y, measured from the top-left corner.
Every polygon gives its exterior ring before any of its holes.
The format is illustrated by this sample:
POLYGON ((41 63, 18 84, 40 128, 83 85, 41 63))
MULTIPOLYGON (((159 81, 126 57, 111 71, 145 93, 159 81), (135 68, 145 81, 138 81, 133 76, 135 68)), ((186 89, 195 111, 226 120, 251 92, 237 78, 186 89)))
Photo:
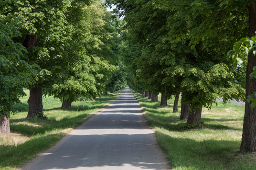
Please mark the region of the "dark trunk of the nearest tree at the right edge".
MULTIPOLYGON (((256 31, 256 5, 254 2, 248 7, 249 10, 249 37, 255 35, 256 31)), ((250 79, 249 75, 253 72, 253 67, 256 66, 256 56, 253 51, 248 54, 248 64, 246 70, 245 84, 245 117, 243 125, 242 142, 240 152, 255 152, 256 151, 256 107, 251 109, 251 102, 247 102, 247 97, 256 91, 256 79, 250 79)))

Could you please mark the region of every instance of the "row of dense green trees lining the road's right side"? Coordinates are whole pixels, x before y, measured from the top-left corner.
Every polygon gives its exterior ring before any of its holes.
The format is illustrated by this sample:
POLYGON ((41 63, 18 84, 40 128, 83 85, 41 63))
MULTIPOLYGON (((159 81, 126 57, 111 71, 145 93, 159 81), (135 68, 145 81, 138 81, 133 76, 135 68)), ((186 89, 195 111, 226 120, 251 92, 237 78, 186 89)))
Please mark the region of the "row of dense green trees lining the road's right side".
MULTIPOLYGON (((249 37, 255 35, 254 1, 107 0, 107 3, 115 4, 115 11, 126 22, 121 55, 132 89, 146 91, 145 96, 148 92, 161 93, 161 100, 181 93, 181 119, 186 119, 187 110, 191 113, 187 124, 202 124, 202 107, 211 109, 218 98, 224 102, 245 101, 240 151, 256 151, 256 107, 250 107, 253 96, 245 100, 256 91, 256 80, 249 77, 256 66, 256 57, 253 51, 248 56, 248 51, 241 52, 239 60, 233 58, 244 62, 235 65, 226 58, 234 42, 246 37, 248 30, 249 37)), ((161 103, 164 105, 165 101, 161 103)))

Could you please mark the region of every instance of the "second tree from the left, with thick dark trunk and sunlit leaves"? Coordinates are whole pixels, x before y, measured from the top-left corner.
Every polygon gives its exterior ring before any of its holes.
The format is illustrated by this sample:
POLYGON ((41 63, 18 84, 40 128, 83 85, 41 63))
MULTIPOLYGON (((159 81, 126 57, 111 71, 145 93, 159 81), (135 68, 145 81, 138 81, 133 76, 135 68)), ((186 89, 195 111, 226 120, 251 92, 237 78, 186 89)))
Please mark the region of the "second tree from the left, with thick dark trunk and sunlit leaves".
POLYGON ((26 61, 39 66, 35 83, 29 86, 27 118, 43 112, 43 88, 51 86, 61 67, 66 65, 68 56, 64 48, 71 38, 71 28, 67 25, 64 12, 70 5, 71 0, 25 0, 19 3, 18 8, 12 7, 13 13, 24 21, 19 41, 28 50, 26 61))

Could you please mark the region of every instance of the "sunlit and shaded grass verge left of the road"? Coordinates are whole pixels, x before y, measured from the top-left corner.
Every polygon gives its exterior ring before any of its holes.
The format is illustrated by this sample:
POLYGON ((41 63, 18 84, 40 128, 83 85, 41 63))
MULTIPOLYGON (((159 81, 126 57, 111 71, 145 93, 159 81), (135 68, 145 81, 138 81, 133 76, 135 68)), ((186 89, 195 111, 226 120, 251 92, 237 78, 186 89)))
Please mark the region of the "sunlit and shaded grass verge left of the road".
MULTIPOLYGON (((25 91, 27 94, 28 90, 25 91)), ((62 102, 51 96, 43 97, 43 113, 47 120, 25 119, 28 95, 16 105, 18 112, 11 115, 11 135, 0 137, 0 170, 16 169, 39 152, 53 146, 75 127, 92 117, 98 110, 106 108, 116 100, 120 91, 102 96, 101 99, 72 103, 71 111, 61 110, 62 102)))

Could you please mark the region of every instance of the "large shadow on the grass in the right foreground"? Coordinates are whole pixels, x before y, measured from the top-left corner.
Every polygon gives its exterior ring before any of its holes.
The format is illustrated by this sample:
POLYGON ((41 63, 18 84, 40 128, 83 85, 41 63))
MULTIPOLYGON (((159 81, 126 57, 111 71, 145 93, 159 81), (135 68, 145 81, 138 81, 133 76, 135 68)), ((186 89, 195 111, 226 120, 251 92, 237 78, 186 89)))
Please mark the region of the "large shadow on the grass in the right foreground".
MULTIPOLYGON (((188 138, 173 138, 159 131, 156 132, 156 136, 163 141, 161 145, 167 152, 168 160, 174 169, 237 169, 235 162, 233 167, 230 165, 232 165, 231 161, 235 161, 233 153, 239 150, 240 141, 196 141, 188 138)), ((246 169, 247 165, 245 163, 239 166, 246 169)))

